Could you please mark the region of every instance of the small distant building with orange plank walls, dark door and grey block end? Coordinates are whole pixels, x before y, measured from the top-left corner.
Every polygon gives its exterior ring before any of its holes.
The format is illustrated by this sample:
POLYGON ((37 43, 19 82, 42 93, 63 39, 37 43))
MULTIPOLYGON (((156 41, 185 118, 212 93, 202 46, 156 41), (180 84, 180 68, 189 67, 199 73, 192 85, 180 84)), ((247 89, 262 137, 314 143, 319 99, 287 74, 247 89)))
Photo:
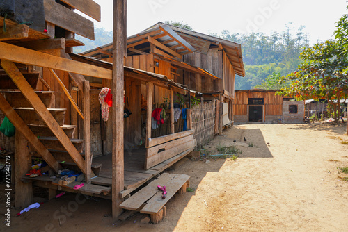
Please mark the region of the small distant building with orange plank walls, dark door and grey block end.
POLYGON ((304 102, 276 94, 279 90, 236 90, 236 123, 303 123, 304 102))

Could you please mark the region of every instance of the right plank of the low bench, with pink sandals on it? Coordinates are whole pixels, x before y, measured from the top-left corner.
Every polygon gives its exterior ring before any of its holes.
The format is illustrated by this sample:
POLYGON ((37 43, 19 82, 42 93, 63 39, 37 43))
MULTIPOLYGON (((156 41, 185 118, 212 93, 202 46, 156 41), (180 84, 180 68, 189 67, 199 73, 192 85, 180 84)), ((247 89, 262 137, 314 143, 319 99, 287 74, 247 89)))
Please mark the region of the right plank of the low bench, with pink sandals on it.
POLYGON ((166 183, 167 196, 165 199, 162 198, 162 192, 157 192, 155 196, 153 196, 148 203, 144 206, 144 208, 140 211, 140 213, 158 213, 161 208, 174 196, 174 194, 182 188, 182 185, 186 183, 190 179, 190 176, 185 174, 177 174, 171 181, 166 183))

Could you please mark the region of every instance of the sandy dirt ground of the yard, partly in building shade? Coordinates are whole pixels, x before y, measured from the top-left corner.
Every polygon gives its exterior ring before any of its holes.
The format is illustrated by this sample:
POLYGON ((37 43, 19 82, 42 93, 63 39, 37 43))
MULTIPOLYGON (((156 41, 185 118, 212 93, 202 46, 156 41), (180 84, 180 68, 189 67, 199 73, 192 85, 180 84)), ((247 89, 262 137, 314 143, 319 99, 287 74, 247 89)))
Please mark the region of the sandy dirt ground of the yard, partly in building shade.
POLYGON ((13 210, 12 226, 0 231, 348 231, 348 175, 337 169, 348 166, 344 125, 237 125, 203 153, 221 154, 216 147, 235 139, 236 160, 185 158, 168 170, 189 174, 195 191, 176 194, 157 225, 140 214, 112 224, 111 201, 67 193, 19 217, 13 210))

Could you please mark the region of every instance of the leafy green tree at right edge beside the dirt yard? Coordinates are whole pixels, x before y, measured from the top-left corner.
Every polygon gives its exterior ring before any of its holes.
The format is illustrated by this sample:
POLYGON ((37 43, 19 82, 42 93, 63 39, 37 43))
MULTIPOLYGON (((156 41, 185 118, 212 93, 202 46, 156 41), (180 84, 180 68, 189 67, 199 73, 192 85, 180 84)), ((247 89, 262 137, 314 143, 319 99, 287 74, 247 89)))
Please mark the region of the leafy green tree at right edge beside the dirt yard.
POLYGON ((283 83, 290 83, 282 88, 283 92, 299 100, 327 99, 338 122, 340 103, 333 100, 348 97, 348 60, 344 51, 342 43, 335 40, 304 49, 298 69, 281 79, 283 83))

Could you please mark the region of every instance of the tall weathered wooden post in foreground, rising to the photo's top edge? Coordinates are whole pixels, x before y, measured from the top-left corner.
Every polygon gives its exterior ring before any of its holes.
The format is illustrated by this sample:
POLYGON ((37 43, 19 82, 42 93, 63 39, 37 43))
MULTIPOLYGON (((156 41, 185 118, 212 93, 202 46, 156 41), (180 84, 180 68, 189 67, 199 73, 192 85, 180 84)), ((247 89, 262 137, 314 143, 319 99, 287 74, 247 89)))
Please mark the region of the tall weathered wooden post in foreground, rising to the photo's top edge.
POLYGON ((122 214, 120 192, 124 187, 123 154, 123 98, 124 98, 124 57, 126 55, 127 36, 127 0, 113 0, 113 114, 112 114, 112 216, 116 222, 122 214))

